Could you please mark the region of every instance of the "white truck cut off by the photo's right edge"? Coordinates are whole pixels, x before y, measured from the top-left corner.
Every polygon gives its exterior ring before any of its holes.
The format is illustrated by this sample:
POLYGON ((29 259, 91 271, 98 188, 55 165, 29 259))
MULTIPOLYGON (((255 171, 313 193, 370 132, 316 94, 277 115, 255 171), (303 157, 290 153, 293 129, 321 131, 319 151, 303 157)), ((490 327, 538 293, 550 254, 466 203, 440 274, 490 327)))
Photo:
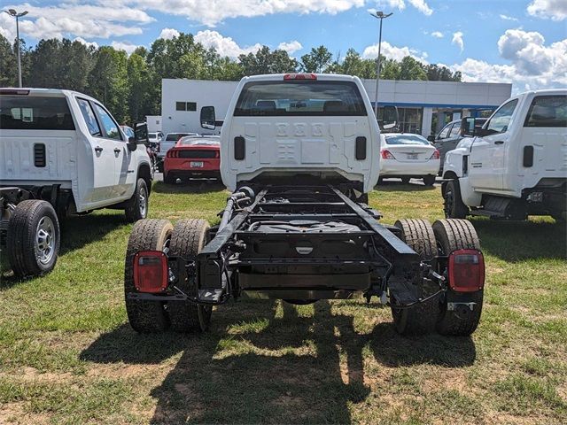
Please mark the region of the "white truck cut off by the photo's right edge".
POLYGON ((522 93, 447 152, 442 193, 445 215, 525 220, 567 212, 567 90, 522 93))

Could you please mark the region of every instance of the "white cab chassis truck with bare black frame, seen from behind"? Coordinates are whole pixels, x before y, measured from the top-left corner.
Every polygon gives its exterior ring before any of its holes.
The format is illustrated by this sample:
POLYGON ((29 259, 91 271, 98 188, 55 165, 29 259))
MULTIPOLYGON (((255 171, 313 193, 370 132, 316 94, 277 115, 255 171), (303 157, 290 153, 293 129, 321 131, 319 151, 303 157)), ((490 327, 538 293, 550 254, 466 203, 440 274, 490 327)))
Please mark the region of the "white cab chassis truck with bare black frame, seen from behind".
MULTIPOLYGON (((204 107, 201 125, 216 122, 204 107)), ((367 205, 379 134, 356 77, 240 81, 221 130, 221 175, 232 194, 220 224, 140 220, 130 235, 132 328, 203 331, 214 305, 244 293, 292 304, 358 293, 391 305, 402 334, 470 335, 485 270, 475 229, 467 220, 380 224, 367 205)))

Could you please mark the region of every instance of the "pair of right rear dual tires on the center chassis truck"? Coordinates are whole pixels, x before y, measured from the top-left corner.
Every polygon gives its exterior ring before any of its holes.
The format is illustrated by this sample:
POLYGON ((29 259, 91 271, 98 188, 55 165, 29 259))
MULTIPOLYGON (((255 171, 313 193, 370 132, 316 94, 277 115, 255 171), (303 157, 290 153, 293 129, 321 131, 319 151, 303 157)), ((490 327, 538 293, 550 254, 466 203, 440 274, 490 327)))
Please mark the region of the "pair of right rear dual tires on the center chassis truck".
MULTIPOLYGON (((430 260, 436 255, 448 255, 461 249, 480 250, 475 228, 468 220, 437 220, 431 226, 428 220, 398 220, 401 238, 422 259, 430 260)), ((432 293, 424 293, 427 297, 432 293)), ((444 297, 432 298, 409 308, 395 308, 392 302, 392 317, 396 330, 402 335, 421 335, 437 330, 441 335, 468 336, 475 331, 482 311, 483 290, 467 294, 467 303, 475 303, 473 309, 449 310, 447 298, 459 298, 460 294, 448 289, 444 297)))

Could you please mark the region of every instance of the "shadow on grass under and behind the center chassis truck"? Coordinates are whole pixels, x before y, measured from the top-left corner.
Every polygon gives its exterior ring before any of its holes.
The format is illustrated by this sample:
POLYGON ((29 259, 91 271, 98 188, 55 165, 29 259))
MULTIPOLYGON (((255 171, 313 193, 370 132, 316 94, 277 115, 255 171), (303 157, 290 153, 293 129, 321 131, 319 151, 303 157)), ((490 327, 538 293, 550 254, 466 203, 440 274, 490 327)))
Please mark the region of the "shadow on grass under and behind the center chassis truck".
POLYGON ((327 301, 316 303, 313 314, 278 305, 221 306, 211 330, 199 336, 139 336, 124 325, 100 336, 81 358, 157 364, 183 352, 151 391, 158 399, 151 423, 161 424, 349 423, 349 406, 363 402, 379 385, 377 367, 365 376, 364 365, 375 364, 372 357, 378 367, 462 367, 476 356, 470 338, 406 338, 391 323, 359 334, 353 316, 333 314, 327 301))

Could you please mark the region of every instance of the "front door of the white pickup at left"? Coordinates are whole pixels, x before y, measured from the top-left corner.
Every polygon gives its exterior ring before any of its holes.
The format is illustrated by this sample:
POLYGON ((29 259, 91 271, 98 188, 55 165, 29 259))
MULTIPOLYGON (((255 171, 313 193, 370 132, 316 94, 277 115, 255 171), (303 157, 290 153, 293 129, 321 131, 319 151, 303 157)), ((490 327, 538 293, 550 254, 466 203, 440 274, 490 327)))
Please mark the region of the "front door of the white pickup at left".
POLYGON ((132 188, 136 180, 136 170, 132 166, 134 156, 128 151, 126 136, 113 119, 113 116, 106 111, 101 104, 95 104, 95 111, 100 119, 106 138, 112 141, 113 145, 113 198, 122 200, 131 196, 132 188), (130 175, 133 174, 133 175, 130 175))

